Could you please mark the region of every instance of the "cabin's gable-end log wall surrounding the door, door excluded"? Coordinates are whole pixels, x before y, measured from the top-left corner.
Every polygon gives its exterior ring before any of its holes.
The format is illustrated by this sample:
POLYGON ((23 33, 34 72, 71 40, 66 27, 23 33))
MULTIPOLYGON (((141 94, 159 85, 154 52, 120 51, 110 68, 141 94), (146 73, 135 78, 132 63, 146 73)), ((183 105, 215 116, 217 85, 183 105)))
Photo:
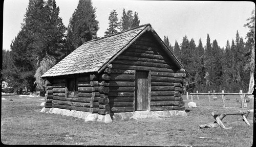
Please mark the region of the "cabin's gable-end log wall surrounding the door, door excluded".
POLYGON ((170 61, 153 36, 144 33, 112 62, 110 108, 133 112, 135 70, 151 71, 150 111, 183 110, 181 92, 184 72, 170 61))

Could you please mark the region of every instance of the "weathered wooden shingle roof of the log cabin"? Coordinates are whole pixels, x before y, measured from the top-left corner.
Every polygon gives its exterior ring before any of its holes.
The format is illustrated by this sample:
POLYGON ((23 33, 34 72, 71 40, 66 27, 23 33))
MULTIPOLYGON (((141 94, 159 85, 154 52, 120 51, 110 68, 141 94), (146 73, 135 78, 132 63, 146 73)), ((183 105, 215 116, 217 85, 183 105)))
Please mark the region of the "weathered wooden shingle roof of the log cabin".
MULTIPOLYGON (((150 30, 154 31, 151 25, 144 24, 131 30, 85 42, 41 77, 100 72, 139 36, 150 30)), ((176 60, 178 61, 177 58, 176 60)))

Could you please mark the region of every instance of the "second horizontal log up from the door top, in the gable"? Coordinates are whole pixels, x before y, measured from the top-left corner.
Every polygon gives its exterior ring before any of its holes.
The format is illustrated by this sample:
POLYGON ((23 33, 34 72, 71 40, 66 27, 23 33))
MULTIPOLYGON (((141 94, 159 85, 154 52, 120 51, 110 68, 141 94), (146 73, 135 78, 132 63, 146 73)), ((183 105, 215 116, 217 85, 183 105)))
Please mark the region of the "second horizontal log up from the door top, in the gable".
POLYGON ((115 64, 125 64, 125 65, 136 65, 136 66, 150 66, 150 67, 160 67, 173 69, 175 66, 165 63, 154 63, 154 62, 144 62, 144 61, 131 61, 131 60, 115 60, 115 64))

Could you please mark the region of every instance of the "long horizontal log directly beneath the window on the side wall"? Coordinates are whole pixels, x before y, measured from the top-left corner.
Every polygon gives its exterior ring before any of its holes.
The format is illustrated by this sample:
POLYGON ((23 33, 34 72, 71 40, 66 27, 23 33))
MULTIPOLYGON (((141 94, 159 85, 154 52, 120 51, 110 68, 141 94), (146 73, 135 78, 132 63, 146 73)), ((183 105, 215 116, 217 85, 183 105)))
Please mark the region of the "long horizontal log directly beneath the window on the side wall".
POLYGON ((53 96, 53 100, 61 100, 61 101, 71 101, 71 102, 98 102, 99 97, 62 97, 62 96, 53 96))

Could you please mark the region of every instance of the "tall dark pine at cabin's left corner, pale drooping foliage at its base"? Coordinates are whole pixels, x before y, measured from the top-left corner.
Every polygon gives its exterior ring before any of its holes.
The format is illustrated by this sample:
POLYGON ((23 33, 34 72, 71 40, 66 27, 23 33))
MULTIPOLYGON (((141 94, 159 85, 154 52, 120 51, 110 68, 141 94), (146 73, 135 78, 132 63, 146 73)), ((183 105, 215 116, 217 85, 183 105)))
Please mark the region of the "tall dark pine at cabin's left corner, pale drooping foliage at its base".
POLYGON ((37 88, 45 91, 47 83, 46 80, 41 78, 41 75, 65 55, 63 38, 65 37, 66 27, 58 16, 59 7, 56 6, 55 0, 48 0, 41 13, 44 13, 44 20, 38 22, 41 27, 34 30, 37 37, 34 44, 40 44, 34 50, 37 59, 37 70, 34 77, 37 88))

